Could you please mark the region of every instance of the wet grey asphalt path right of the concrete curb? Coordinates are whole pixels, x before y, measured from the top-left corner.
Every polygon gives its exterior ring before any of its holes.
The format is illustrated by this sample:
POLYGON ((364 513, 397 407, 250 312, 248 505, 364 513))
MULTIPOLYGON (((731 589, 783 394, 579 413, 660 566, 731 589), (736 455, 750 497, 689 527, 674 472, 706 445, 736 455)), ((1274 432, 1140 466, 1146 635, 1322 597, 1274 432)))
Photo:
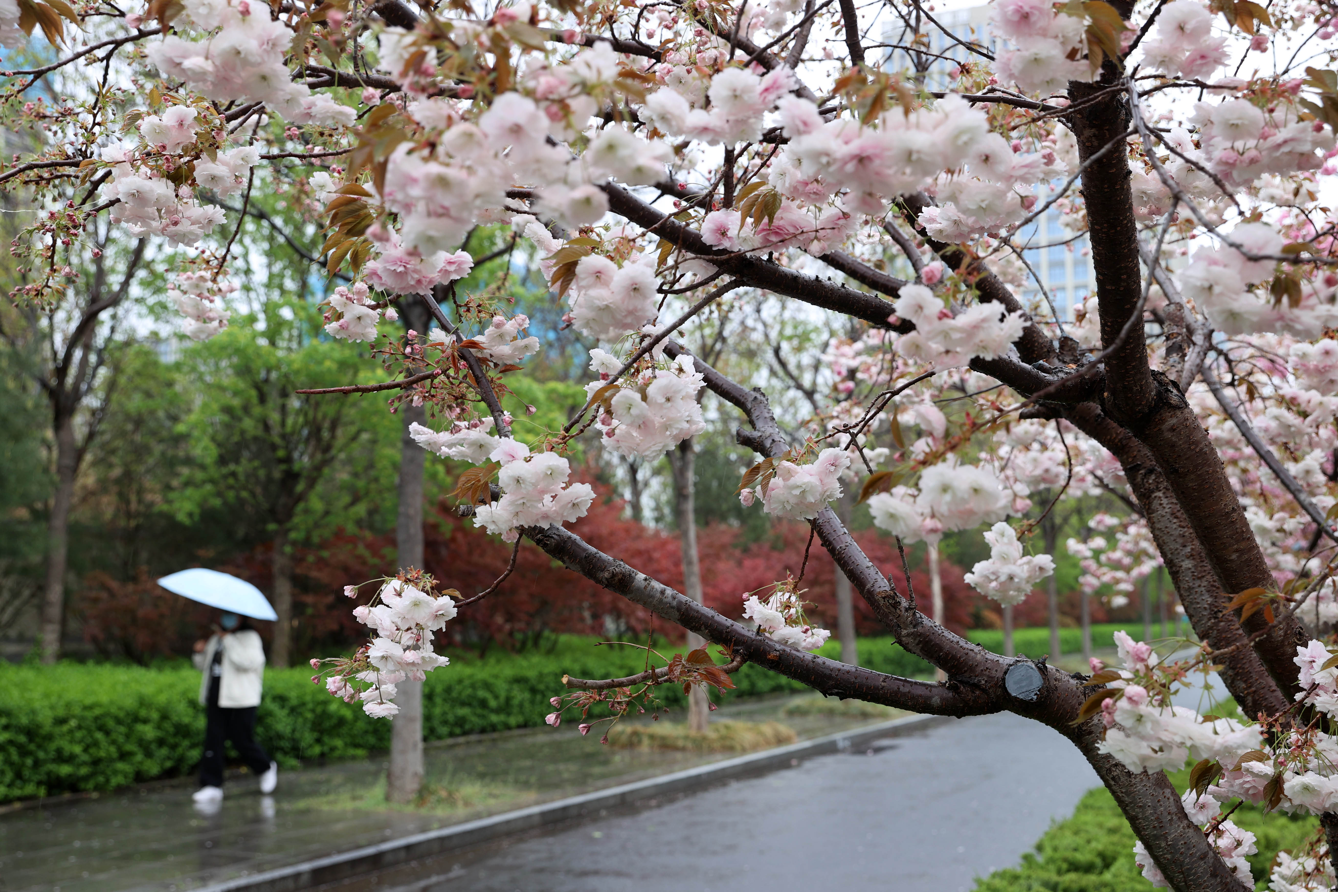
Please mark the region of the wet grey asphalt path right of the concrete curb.
POLYGON ((397 876, 393 888, 967 891, 975 877, 1017 864, 1097 785, 1056 732, 985 715, 447 857, 435 873, 397 876))

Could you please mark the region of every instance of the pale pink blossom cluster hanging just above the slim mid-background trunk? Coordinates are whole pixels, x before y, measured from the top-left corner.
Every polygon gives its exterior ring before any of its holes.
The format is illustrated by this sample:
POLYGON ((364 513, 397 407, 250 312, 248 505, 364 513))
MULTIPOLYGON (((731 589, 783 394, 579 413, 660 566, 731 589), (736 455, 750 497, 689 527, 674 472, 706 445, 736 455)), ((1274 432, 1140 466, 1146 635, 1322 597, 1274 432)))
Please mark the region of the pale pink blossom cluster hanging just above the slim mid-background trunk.
MULTIPOLYGON (((598 381, 586 385, 594 396, 609 386, 607 380, 622 364, 598 348, 590 350, 590 369, 598 381)), ((607 408, 599 412, 595 427, 603 435, 605 448, 618 455, 654 461, 665 452, 706 429, 701 417, 697 392, 702 376, 693 358, 681 354, 664 368, 646 365, 641 372, 615 382, 615 392, 606 395, 607 408)))

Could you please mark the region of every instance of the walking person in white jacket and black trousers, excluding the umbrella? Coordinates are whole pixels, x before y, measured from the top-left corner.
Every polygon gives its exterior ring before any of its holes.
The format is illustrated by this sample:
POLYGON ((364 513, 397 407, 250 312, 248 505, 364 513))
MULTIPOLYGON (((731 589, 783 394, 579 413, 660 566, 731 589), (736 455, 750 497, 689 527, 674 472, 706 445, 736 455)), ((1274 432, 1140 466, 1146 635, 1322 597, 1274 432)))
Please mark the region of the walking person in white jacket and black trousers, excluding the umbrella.
POLYGON ((205 673, 199 702, 205 705, 205 753, 199 760, 199 789, 191 798, 213 805, 223 798, 223 745, 231 741, 250 770, 260 776, 260 792, 278 785, 278 764, 256 742, 265 646, 260 633, 233 612, 225 612, 218 631, 195 642, 195 669, 205 673))

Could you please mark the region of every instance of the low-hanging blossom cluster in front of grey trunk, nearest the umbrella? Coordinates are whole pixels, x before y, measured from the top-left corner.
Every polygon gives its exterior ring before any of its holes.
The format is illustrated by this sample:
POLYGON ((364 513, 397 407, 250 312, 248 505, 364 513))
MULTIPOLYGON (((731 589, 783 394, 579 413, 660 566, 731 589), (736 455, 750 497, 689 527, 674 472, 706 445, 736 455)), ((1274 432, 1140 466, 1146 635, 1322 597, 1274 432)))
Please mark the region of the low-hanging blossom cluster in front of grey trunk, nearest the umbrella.
MULTIPOLYGON (((357 587, 348 586, 344 594, 355 596, 357 587)), ((353 617, 376 633, 372 639, 352 659, 313 659, 312 669, 332 663, 326 691, 349 703, 361 702, 372 718, 391 718, 400 711, 392 702, 397 683, 423 681, 427 673, 451 662, 432 650, 432 634, 455 612, 451 592, 435 598, 403 579, 388 579, 372 603, 353 608, 353 617)), ((312 681, 320 682, 321 677, 312 681)))

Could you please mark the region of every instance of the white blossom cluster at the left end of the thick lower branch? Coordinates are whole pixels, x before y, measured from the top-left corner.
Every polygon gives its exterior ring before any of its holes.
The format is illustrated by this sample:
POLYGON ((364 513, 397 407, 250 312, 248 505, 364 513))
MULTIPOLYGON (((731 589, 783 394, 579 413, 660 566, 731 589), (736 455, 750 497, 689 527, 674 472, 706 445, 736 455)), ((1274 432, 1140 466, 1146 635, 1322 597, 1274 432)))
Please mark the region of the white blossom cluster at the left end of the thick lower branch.
POLYGON ((466 424, 456 421, 448 431, 409 425, 413 441, 443 457, 482 464, 498 461, 502 497, 474 508, 474 524, 506 542, 519 538, 520 527, 557 527, 583 518, 594 501, 587 483, 567 483, 571 465, 555 452, 531 453, 514 437, 488 433, 492 419, 466 424))

